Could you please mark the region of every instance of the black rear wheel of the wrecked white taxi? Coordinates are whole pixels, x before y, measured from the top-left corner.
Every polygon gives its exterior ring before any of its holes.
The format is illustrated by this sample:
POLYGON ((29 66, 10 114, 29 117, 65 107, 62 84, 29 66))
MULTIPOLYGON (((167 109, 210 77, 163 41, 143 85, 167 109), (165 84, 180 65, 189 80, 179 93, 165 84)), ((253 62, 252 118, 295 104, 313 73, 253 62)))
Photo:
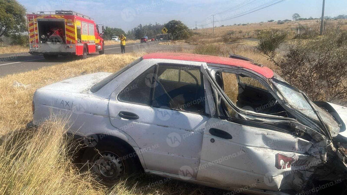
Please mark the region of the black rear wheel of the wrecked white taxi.
POLYGON ((82 171, 89 169, 97 181, 108 187, 117 184, 123 176, 141 171, 136 153, 115 140, 100 140, 95 147, 87 147, 81 162, 82 171))

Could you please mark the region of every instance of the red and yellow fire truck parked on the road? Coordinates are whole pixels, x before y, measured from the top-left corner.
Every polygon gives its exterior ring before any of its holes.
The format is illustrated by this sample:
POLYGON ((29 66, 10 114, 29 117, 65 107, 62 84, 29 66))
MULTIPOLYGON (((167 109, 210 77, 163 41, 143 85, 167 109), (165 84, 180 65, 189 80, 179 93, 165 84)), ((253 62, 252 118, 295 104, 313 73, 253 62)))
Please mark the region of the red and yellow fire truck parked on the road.
POLYGON ((39 11, 27 14, 31 54, 43 54, 46 59, 58 55, 77 55, 87 58, 88 53, 104 54, 102 31, 93 18, 74 11, 39 11))

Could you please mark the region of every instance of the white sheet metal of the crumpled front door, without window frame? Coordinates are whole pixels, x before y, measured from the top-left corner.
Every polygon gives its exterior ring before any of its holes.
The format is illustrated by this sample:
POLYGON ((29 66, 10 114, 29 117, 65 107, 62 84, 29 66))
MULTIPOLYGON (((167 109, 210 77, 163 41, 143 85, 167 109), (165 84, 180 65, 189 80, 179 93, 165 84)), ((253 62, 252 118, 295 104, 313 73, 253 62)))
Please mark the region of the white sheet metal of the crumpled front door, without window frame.
POLYGON ((198 180, 234 187, 257 185, 257 188, 279 190, 282 179, 292 170, 292 162, 283 161, 276 167, 280 155, 298 160, 307 158, 312 143, 292 135, 211 118, 206 126, 228 132, 226 140, 204 131, 198 180), (211 142, 211 139, 214 141, 211 142), (221 148, 228 148, 221 149, 221 148), (219 177, 214 177, 214 175, 219 177), (235 177, 237 175, 237 177, 235 177))

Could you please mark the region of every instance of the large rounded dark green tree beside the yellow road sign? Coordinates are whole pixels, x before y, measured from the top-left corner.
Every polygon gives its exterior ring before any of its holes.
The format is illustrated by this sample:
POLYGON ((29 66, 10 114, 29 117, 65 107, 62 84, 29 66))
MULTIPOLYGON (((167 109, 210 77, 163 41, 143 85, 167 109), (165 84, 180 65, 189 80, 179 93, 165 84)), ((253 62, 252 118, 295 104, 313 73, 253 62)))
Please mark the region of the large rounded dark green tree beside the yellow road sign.
POLYGON ((171 20, 165 24, 165 27, 168 29, 169 37, 172 40, 185 40, 192 35, 190 29, 179 20, 171 20))

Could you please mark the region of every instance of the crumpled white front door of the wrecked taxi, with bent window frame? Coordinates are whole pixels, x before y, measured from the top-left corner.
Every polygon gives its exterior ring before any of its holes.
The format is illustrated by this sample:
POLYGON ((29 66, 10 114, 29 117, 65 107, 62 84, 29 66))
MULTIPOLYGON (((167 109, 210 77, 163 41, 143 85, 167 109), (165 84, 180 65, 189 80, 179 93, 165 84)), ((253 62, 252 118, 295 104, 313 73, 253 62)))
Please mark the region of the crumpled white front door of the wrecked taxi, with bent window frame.
MULTIPOLYGON (((201 70, 216 101, 224 92, 212 84, 214 78, 207 72, 207 66, 202 65, 201 70)), ((302 178, 308 178, 312 172, 301 172, 307 175, 298 177, 293 170, 321 163, 308 155, 311 142, 262 122, 217 116, 211 117, 205 127, 197 175, 200 181, 231 188, 299 190, 305 183, 302 178)))

